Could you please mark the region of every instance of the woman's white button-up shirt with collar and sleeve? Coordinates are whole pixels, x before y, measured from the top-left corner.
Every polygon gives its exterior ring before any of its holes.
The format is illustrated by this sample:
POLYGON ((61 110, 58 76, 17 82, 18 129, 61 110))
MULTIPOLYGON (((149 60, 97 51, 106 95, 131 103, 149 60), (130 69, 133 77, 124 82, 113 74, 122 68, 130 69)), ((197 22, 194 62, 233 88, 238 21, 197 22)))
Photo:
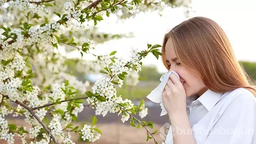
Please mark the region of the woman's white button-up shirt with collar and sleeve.
MULTIPOLYGON (((256 144, 256 98, 247 89, 187 97, 187 114, 197 144, 256 144)), ((170 127, 166 144, 172 133, 170 127)))

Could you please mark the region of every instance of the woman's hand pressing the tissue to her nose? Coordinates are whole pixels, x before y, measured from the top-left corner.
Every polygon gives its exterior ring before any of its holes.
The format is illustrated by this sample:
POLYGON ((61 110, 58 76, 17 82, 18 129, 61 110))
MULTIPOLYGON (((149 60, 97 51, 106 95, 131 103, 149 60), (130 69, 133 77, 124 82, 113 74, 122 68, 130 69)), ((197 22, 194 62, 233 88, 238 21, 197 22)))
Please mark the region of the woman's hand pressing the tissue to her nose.
POLYGON ((170 74, 162 93, 164 108, 170 114, 186 113, 186 91, 175 74, 170 74))

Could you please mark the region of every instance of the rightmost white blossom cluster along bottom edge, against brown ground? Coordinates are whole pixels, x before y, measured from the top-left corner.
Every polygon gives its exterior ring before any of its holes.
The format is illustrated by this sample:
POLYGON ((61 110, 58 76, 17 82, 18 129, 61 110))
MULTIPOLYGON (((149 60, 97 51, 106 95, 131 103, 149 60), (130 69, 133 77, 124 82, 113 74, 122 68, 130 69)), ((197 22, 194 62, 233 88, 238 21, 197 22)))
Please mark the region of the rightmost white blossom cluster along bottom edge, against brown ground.
POLYGON ((81 129, 82 133, 82 139, 86 140, 88 139, 89 142, 95 142, 97 139, 100 139, 101 134, 97 133, 94 135, 94 129, 90 125, 85 124, 83 128, 81 129))

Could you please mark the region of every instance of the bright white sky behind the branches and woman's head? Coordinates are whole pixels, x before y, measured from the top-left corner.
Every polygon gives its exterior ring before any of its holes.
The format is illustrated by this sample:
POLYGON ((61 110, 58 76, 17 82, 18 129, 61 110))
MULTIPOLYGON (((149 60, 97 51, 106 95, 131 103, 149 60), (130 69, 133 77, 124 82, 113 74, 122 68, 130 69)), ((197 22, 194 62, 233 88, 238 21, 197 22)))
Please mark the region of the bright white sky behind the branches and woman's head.
MULTIPOLYGON (((238 60, 256 62, 255 0, 192 0, 191 6, 195 9, 192 17, 205 16, 216 21, 224 29, 238 60)), ((144 50, 147 48, 147 43, 162 45, 164 34, 188 19, 183 11, 183 8, 166 8, 162 17, 157 12, 140 13, 133 19, 114 24, 113 21, 117 18, 115 15, 110 15, 97 24, 100 31, 114 34, 133 32, 134 37, 97 44, 94 53, 104 54, 116 50, 116 56, 129 60, 128 53, 132 47, 144 50)), ((80 56, 80 53, 72 55, 80 56)), ((86 58, 93 59, 89 55, 86 58)), ((152 54, 142 62, 143 65, 156 66, 160 73, 167 72, 161 58, 157 60, 152 54)))

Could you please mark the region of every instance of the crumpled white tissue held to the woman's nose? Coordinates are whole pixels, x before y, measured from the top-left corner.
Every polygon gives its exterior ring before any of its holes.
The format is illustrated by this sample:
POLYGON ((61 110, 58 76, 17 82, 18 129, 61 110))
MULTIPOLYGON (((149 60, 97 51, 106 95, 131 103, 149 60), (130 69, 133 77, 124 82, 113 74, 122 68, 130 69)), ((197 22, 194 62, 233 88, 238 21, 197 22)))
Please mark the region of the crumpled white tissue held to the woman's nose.
POLYGON ((170 76, 171 73, 174 73, 178 77, 178 79, 180 80, 180 76, 178 76, 178 74, 175 71, 173 71, 173 70, 169 71, 168 73, 163 74, 160 77, 161 83, 153 91, 151 91, 150 94, 147 96, 147 98, 150 101, 152 101, 154 103, 160 103, 160 106, 161 106, 161 109, 162 109, 162 112, 161 112, 160 116, 163 116, 163 115, 167 114, 167 111, 164 108, 163 102, 162 102, 162 92, 163 92, 164 86, 167 84, 167 81, 168 81, 169 76, 170 76))

